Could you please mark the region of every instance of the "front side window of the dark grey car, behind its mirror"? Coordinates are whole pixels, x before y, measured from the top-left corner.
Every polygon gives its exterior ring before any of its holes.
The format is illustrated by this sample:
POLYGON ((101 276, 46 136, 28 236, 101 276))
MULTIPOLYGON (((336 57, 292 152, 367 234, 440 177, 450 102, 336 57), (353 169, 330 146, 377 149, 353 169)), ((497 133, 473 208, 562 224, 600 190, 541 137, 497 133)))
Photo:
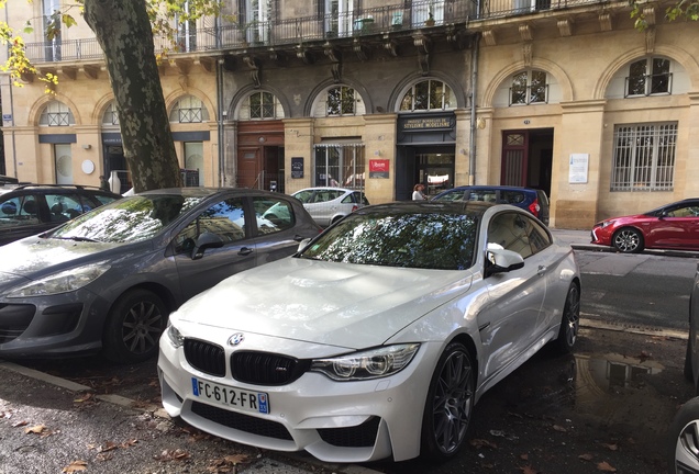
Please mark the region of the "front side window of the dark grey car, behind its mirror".
POLYGON ((177 234, 175 252, 191 251, 197 238, 206 232, 218 235, 224 244, 244 239, 244 204, 243 198, 231 198, 209 206, 177 234))

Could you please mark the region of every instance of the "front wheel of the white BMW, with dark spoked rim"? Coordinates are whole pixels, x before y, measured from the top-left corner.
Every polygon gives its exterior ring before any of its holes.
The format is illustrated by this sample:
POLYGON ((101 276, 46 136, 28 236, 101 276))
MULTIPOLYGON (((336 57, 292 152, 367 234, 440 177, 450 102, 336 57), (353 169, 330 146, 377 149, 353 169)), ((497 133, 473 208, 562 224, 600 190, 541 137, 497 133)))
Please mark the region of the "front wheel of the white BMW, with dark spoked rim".
POLYGON ((474 409, 475 368, 461 342, 450 343, 432 375, 422 418, 424 458, 444 461, 464 444, 474 409))

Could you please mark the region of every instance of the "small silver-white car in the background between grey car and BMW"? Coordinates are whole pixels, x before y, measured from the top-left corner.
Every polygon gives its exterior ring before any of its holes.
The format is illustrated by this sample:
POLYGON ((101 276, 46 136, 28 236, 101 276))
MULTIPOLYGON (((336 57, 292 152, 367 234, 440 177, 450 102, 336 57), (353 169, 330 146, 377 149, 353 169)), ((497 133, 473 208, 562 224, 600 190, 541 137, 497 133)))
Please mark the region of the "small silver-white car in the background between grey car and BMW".
POLYGON ((344 188, 307 188, 291 195, 301 201, 303 207, 323 227, 369 205, 364 192, 344 188))

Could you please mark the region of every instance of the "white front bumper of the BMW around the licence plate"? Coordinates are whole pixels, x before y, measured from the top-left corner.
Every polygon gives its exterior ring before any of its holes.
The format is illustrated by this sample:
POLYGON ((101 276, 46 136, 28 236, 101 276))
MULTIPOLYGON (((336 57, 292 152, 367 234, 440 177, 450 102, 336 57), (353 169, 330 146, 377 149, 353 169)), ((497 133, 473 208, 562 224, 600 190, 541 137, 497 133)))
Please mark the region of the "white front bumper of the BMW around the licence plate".
MULTIPOLYGON (((298 352, 312 346, 298 343, 298 352)), ((278 351, 278 346, 274 347, 278 351)), ((395 461, 420 454, 422 415, 441 345, 423 343, 402 371, 387 377, 335 382, 306 372, 280 386, 241 383, 217 377, 190 365, 184 349, 167 335, 160 338, 158 376, 163 405, 173 417, 221 438, 278 451, 306 450, 325 462, 367 462, 393 455, 395 461), (264 392, 269 413, 251 413, 198 396, 197 381, 264 392)), ((285 352, 286 353, 286 352, 285 352)), ((226 350, 226 360, 231 352, 226 350)))

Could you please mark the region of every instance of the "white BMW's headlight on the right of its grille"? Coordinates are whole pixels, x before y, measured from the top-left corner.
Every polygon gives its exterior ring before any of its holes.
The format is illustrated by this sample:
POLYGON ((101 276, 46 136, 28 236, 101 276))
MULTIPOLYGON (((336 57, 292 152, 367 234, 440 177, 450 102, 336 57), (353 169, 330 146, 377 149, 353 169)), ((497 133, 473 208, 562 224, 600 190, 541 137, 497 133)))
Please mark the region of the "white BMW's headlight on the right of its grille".
POLYGON ((311 371, 342 382, 379 379, 408 366, 418 349, 419 343, 396 345, 336 358, 317 359, 311 364, 311 371))

